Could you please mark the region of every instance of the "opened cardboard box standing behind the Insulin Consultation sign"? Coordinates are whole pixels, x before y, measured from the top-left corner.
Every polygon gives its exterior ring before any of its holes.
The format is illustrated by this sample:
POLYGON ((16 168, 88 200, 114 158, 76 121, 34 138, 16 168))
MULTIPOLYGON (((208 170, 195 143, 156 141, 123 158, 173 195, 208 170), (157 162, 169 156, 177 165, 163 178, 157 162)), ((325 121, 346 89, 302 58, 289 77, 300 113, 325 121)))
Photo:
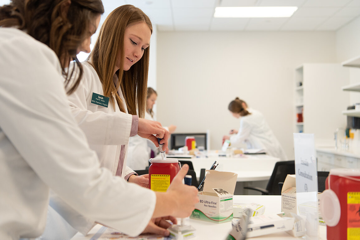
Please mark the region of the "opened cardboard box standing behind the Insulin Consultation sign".
MULTIPOLYGON (((319 224, 326 225, 320 214, 320 200, 321 193, 318 193, 318 212, 319 212, 319 224)), ((306 213, 314 208, 314 203, 306 202, 299 205, 299 213, 306 216, 306 213)), ((283 188, 281 190, 281 210, 284 213, 295 213, 296 211, 296 178, 295 175, 288 174, 285 178, 283 188)))

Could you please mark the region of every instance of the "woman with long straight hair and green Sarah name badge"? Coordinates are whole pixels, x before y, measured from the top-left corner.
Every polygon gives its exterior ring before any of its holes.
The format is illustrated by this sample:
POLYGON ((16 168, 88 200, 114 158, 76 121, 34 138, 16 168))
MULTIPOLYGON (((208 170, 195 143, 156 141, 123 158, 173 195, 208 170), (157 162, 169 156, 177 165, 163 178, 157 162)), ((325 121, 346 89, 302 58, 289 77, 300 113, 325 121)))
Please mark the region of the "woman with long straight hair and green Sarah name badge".
MULTIPOLYGON (((139 8, 123 5, 113 10, 100 29, 89 60, 81 64, 81 83, 68 96, 72 115, 98 155, 100 166, 143 187, 148 186, 148 175, 137 176, 127 167, 126 153, 129 137, 136 134, 158 146, 157 138, 142 128, 161 124, 138 117, 145 112, 151 34, 152 24, 139 8)), ((51 196, 50 206, 82 234, 93 227, 93 220, 79 216, 56 195, 51 196)), ((54 223, 48 225, 50 229, 54 223)), ((169 235, 168 226, 164 219, 161 226, 152 224, 147 231, 169 235)))

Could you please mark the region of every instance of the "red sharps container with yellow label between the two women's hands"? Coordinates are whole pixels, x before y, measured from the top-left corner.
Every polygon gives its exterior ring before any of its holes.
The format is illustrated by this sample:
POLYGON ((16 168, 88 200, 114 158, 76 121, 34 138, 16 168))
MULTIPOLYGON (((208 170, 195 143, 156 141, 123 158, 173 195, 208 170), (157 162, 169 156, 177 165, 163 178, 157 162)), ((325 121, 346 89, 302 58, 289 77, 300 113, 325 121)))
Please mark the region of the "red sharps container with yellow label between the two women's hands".
POLYGON ((150 158, 149 189, 166 192, 172 179, 180 170, 180 163, 176 158, 150 158))

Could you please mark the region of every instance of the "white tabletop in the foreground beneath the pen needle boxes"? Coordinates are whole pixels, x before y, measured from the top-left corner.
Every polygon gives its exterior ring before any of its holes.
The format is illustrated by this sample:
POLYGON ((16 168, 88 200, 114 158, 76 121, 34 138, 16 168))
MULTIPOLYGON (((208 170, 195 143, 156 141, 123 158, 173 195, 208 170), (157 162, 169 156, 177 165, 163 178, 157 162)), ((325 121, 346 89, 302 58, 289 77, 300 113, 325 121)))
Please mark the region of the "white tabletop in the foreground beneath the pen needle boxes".
MULTIPOLYGON (((266 195, 235 195, 234 203, 258 203, 265 206, 265 214, 276 214, 281 212, 281 196, 266 196, 266 195)), ((197 236, 192 238, 194 240, 204 240, 204 239, 225 239, 227 234, 231 230, 231 222, 224 223, 211 223, 204 222, 194 219, 188 219, 191 226, 193 226, 197 232, 197 236)), ((89 240, 91 237, 100 229, 101 225, 96 225, 87 236, 83 236, 80 233, 77 233, 71 240, 89 240)), ((326 227, 319 226, 320 236, 319 239, 326 239, 326 227)), ((301 239, 301 237, 293 237, 287 232, 279 232, 276 234, 269 234, 264 236, 258 236, 253 238, 254 240, 290 240, 290 239, 301 239)))

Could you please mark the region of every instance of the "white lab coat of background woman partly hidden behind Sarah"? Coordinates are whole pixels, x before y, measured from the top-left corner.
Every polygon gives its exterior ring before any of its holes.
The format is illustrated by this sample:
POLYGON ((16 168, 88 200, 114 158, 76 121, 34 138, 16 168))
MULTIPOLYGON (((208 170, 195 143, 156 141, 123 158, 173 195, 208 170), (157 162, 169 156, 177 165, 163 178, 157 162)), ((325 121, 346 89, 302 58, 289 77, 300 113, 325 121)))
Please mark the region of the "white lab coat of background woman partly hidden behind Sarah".
MULTIPOLYGON (((145 112, 145 119, 155 121, 148 112, 145 112)), ((145 139, 139 135, 130 137, 127 152, 127 166, 135 170, 142 170, 149 167, 151 150, 156 152, 157 148, 149 139, 145 139)))

